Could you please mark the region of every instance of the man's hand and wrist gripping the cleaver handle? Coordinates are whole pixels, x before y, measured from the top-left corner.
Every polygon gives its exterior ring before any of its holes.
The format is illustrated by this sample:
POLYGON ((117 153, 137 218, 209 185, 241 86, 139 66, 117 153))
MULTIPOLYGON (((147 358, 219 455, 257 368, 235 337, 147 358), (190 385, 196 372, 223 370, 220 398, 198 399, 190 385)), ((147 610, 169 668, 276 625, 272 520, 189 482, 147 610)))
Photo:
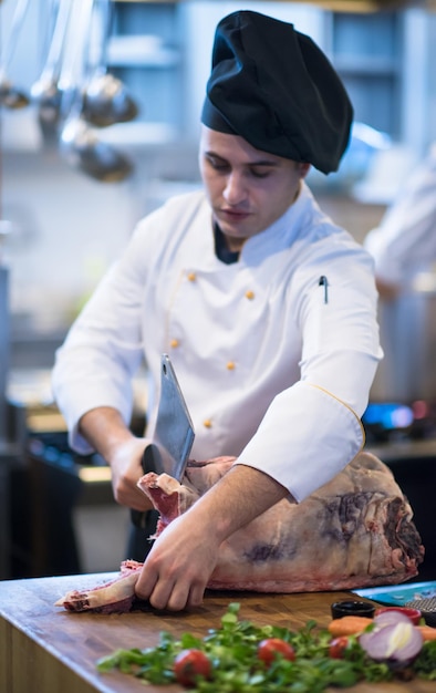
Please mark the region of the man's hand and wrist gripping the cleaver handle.
POLYGON ((134 436, 120 412, 110 406, 86 412, 80 432, 111 466, 115 500, 134 510, 149 510, 152 501, 136 484, 144 474, 141 462, 150 441, 134 436))

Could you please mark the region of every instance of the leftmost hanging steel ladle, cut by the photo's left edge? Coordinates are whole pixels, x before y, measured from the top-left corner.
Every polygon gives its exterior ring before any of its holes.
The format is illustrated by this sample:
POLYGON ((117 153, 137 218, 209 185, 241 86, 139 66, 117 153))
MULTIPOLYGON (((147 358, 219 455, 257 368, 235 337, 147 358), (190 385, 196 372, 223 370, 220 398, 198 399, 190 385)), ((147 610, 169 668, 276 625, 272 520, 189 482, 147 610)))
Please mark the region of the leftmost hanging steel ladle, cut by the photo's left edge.
POLYGON ((18 39, 21 33, 25 14, 29 8, 29 0, 17 0, 15 9, 12 14, 11 28, 8 38, 1 51, 0 60, 0 105, 6 108, 23 108, 29 105, 30 101, 27 94, 12 84, 7 77, 7 72, 17 48, 18 39))

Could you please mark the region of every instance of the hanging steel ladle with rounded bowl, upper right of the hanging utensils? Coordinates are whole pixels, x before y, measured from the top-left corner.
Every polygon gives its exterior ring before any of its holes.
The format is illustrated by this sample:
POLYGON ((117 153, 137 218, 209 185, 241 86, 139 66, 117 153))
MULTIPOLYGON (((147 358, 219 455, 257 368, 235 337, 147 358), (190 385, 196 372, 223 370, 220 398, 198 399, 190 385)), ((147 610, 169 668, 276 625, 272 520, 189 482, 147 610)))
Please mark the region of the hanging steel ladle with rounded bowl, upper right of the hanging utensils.
MULTIPOLYGON (((107 43, 113 23, 112 0, 96 0, 97 58, 83 95, 83 117, 97 127, 133 121, 138 108, 121 80, 107 72, 107 43)), ((95 44, 91 49, 95 49, 95 44)))

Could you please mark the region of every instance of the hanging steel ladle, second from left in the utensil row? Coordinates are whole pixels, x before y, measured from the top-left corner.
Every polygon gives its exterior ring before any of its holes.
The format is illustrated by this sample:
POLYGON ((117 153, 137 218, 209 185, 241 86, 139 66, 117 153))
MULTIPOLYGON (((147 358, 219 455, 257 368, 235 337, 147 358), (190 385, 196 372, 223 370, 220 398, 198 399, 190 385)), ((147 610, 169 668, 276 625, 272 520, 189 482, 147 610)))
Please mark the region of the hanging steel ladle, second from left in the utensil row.
POLYGON ((62 92, 59 86, 61 61, 65 43, 72 0, 59 0, 53 34, 41 76, 31 87, 32 100, 38 104, 42 132, 52 136, 61 120, 62 92))

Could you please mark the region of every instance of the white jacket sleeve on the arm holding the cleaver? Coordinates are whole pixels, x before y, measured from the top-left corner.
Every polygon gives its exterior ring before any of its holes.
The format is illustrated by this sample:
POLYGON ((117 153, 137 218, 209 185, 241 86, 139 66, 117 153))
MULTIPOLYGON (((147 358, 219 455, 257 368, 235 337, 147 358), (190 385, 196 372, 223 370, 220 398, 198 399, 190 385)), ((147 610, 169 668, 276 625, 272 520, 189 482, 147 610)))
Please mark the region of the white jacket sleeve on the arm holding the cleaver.
POLYGON ((81 454, 93 452, 79 433, 89 411, 116 408, 128 425, 133 411, 132 377, 144 355, 141 338, 144 251, 138 236, 103 278, 58 350, 52 372, 55 401, 64 415, 69 443, 81 454))

